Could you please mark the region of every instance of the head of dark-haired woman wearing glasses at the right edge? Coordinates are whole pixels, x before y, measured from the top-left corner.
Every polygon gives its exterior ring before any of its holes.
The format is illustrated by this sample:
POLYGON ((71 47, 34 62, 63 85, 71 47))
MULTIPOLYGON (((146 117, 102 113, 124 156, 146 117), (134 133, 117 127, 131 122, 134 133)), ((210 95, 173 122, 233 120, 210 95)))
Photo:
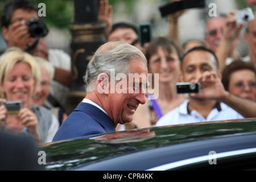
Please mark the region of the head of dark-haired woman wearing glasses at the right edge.
POLYGON ((235 96, 256 101, 256 69, 252 63, 234 61, 222 72, 224 88, 235 96))

